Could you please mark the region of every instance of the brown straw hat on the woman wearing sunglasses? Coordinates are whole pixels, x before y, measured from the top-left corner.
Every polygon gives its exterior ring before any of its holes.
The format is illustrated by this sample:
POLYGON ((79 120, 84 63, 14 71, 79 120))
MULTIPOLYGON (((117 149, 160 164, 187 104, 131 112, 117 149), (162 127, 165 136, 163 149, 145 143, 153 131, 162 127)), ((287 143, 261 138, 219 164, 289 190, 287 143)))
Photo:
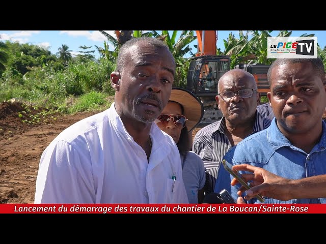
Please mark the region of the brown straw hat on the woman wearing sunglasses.
POLYGON ((202 120, 204 116, 203 103, 188 90, 173 87, 169 101, 180 103, 183 106, 183 115, 188 119, 186 126, 192 131, 202 120))

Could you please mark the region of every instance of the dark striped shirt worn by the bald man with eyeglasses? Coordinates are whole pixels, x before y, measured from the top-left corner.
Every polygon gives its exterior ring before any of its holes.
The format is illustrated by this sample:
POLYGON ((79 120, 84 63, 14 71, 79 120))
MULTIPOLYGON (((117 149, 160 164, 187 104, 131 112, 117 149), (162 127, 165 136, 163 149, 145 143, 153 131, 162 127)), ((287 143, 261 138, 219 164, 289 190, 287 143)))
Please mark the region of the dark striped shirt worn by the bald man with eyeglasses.
MULTIPOLYGON (((256 112, 253 133, 262 131, 270 125, 270 120, 256 112)), ((194 138, 193 151, 204 161, 206 168, 205 194, 214 192, 215 181, 218 176, 220 163, 232 147, 226 130, 225 117, 199 130, 194 138)))

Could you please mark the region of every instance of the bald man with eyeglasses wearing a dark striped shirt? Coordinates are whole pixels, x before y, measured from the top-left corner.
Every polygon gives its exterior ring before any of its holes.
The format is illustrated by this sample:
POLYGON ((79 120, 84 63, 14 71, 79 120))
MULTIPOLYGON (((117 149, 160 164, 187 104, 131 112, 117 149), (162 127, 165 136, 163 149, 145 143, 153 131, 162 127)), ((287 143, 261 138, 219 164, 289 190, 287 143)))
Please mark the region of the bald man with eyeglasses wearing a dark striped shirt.
POLYGON ((247 71, 230 70, 220 78, 215 99, 223 117, 201 129, 193 143, 193 151, 203 159, 206 168, 205 194, 214 192, 220 163, 227 151, 270 125, 269 119, 256 112, 260 96, 255 78, 247 71))

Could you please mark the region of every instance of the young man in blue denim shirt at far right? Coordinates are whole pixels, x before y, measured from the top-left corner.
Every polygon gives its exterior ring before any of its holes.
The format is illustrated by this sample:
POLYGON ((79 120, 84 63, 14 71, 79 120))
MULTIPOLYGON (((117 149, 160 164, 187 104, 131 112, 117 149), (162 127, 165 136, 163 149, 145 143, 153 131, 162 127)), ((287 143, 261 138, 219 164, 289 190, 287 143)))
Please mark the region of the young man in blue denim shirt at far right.
MULTIPOLYGON (((326 85, 322 61, 276 59, 267 78, 267 97, 275 118, 267 129, 231 148, 224 159, 233 165, 250 164, 290 179, 326 174, 326 124, 321 120, 326 85)), ((239 184, 231 187, 232 178, 220 167, 214 192, 226 189, 237 199, 239 184)), ((264 199, 264 203, 326 203, 326 198, 264 199)), ((248 203, 260 202, 253 198, 248 203)))

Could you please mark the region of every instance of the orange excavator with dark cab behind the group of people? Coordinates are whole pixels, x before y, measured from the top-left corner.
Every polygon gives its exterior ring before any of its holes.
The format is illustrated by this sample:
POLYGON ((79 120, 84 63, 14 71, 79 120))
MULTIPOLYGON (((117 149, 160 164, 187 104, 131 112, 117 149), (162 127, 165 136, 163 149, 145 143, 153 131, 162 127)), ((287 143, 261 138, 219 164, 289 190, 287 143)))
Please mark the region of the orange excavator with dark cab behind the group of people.
MULTIPOLYGON (((201 124, 210 124, 223 116, 215 97, 218 95, 219 79, 230 70, 230 56, 216 55, 217 31, 196 31, 196 35, 197 54, 191 58, 187 74, 187 89, 203 102, 205 113, 201 124)), ((269 91, 267 82, 269 65, 239 64, 235 68, 253 74, 258 91, 266 95, 269 91)))

